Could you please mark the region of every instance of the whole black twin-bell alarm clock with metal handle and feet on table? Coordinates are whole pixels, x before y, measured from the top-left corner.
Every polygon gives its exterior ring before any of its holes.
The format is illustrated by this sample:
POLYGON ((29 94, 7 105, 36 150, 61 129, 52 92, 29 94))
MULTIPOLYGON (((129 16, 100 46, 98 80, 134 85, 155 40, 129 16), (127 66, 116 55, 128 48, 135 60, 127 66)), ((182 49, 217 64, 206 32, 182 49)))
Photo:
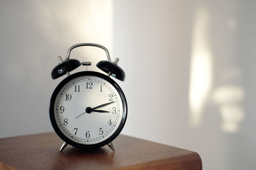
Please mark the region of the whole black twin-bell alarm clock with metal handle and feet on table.
POLYGON ((59 64, 52 69, 52 79, 67 74, 52 93, 49 116, 56 134, 63 140, 62 151, 67 145, 77 148, 99 148, 108 145, 122 131, 127 118, 127 101, 120 86, 111 77, 124 81, 125 73, 109 57, 108 49, 95 43, 80 43, 68 49, 67 57, 58 57, 59 64), (95 46, 106 52, 108 60, 97 63, 104 71, 81 71, 70 74, 79 66, 91 62, 69 59, 70 53, 79 46, 95 46))

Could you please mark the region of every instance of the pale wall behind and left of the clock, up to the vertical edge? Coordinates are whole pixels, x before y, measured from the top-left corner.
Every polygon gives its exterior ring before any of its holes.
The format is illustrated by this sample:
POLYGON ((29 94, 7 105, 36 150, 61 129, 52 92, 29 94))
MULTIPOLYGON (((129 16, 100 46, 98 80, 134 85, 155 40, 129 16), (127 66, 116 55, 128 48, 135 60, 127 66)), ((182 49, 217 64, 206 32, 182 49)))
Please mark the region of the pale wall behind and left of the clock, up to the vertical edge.
MULTIPOLYGON (((64 78, 51 79, 57 56, 86 42, 111 52, 112 6, 110 0, 0 1, 0 138, 53 131, 49 99, 64 78)), ((75 57, 91 61, 91 69, 106 60, 90 47, 72 50, 75 57)))

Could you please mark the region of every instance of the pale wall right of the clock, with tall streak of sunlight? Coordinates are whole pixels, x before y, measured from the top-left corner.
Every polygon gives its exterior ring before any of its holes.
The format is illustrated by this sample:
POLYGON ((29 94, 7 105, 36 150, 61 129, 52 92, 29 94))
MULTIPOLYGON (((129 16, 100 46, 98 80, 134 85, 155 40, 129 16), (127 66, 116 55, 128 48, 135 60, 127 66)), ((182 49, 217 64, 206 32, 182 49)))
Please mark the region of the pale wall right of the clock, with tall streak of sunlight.
POLYGON ((254 169, 255 1, 114 1, 124 134, 254 169))

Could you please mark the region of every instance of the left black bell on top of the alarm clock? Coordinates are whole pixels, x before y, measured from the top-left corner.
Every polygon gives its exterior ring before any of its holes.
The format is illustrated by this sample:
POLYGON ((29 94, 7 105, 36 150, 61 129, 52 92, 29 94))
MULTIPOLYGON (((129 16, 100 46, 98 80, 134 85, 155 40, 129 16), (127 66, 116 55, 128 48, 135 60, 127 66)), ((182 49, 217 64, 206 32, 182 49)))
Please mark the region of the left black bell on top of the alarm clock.
POLYGON ((81 62, 76 59, 68 59, 64 60, 60 64, 58 64, 56 67, 52 69, 52 79, 59 78, 60 76, 63 76, 67 72, 70 72, 77 67, 81 66, 81 62))

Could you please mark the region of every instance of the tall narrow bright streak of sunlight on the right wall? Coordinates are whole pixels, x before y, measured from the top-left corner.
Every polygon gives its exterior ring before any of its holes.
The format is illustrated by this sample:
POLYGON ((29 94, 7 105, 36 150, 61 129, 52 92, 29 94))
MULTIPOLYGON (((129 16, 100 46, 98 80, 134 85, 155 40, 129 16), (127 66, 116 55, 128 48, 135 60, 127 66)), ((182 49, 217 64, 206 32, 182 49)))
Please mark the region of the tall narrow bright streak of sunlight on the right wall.
POLYGON ((212 56, 209 47, 209 15, 203 8, 195 13, 191 48, 189 110, 190 125, 198 126, 212 86, 212 56))

